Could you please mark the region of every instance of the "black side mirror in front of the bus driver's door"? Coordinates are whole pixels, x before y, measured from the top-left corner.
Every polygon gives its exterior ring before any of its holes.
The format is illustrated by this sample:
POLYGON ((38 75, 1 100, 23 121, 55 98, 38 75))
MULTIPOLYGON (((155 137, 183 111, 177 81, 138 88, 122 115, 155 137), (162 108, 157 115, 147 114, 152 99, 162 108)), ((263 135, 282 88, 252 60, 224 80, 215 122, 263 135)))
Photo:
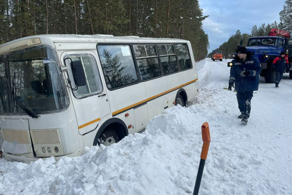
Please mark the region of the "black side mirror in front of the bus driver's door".
POLYGON ((72 74, 74 77, 75 85, 78 87, 86 85, 86 77, 82 62, 80 60, 72 61, 71 63, 72 74))

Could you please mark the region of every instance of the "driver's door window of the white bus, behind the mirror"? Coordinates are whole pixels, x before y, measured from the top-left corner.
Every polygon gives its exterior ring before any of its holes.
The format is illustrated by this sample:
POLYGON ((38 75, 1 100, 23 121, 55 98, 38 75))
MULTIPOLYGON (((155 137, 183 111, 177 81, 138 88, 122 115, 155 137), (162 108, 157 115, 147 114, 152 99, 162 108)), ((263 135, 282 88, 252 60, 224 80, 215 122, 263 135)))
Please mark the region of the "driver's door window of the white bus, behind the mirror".
MULTIPOLYGON (((101 93, 103 91, 103 85, 94 57, 89 54, 74 54, 65 56, 65 58, 68 57, 70 57, 72 61, 80 61, 82 63, 86 77, 86 85, 79 86, 78 89, 74 91, 74 95, 77 98, 82 98, 91 94, 101 93)), ((43 83, 45 83, 45 80, 43 81, 43 83)), ((47 93, 49 93, 49 91, 47 93)))

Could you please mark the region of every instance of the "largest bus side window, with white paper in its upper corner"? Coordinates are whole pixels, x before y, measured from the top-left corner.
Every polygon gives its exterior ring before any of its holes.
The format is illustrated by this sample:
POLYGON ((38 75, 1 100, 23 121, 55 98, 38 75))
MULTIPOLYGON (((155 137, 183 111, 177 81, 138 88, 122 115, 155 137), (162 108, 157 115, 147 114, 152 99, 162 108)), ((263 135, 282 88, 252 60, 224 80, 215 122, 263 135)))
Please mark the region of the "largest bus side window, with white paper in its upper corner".
POLYGON ((109 89, 138 82, 129 45, 98 45, 97 49, 106 86, 109 89))

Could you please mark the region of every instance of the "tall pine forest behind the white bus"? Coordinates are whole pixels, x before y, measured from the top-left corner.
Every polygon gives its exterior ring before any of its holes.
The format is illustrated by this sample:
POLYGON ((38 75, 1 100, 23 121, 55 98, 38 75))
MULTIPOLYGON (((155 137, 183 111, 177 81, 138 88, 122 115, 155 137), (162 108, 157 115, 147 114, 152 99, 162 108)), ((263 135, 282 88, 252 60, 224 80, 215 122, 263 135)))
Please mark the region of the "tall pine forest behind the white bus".
POLYGON ((112 34, 189 40, 209 48, 198 0, 0 0, 0 44, 37 34, 112 34))

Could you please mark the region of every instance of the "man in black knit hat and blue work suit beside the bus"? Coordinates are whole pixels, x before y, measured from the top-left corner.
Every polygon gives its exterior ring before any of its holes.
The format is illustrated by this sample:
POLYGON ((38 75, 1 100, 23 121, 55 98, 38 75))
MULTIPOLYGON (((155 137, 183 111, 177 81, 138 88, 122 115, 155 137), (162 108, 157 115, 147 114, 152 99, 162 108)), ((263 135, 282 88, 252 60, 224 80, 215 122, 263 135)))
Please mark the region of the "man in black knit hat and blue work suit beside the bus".
POLYGON ((231 91, 235 84, 238 108, 241 112, 238 118, 242 119, 241 122, 246 125, 251 110, 252 93, 259 89, 259 74, 262 68, 259 60, 245 47, 238 47, 236 53, 238 55, 233 60, 234 65, 230 70, 228 90, 231 91))

